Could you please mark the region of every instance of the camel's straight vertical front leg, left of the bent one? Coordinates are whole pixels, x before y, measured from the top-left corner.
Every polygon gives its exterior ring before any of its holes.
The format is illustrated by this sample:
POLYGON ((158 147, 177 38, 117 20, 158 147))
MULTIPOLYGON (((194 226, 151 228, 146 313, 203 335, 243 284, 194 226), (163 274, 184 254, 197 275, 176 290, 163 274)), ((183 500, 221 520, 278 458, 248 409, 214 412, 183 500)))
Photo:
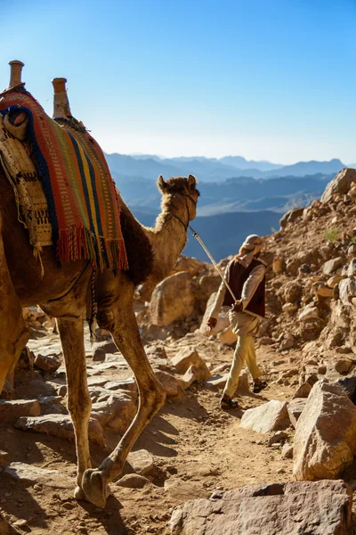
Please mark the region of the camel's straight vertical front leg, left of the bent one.
POLYGON ((58 319, 68 386, 68 409, 73 422, 77 449, 77 489, 74 497, 84 499, 82 478, 92 466, 89 452, 88 422, 92 400, 86 381, 84 324, 80 319, 58 319))

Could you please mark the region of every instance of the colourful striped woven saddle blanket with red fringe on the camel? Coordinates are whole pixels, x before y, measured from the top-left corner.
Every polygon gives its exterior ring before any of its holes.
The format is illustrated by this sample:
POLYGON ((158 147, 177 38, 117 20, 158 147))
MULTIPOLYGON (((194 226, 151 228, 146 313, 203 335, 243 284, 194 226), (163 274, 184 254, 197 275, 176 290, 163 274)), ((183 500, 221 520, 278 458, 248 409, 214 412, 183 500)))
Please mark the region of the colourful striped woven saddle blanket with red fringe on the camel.
MULTIPOLYGON (((21 147, 10 150, 12 153, 7 155, 8 159, 19 163, 19 153, 23 157, 20 167, 13 168, 4 153, 7 150, 6 144, 0 144, 0 158, 3 163, 4 160, 7 163, 6 174, 9 177, 10 173, 12 183, 20 186, 20 198, 25 199, 25 202, 20 202, 21 209, 26 202, 32 202, 35 209, 36 205, 39 207, 38 200, 31 199, 31 191, 36 196, 38 192, 35 191, 33 182, 36 177, 40 181, 59 264, 91 259, 93 265, 101 270, 127 269, 117 190, 100 146, 82 123, 76 119, 51 119, 36 99, 23 88, 5 91, 0 95, 0 114, 0 142, 1 139, 4 141, 4 138, 10 138, 12 148, 16 142, 21 144, 21 147), (10 133, 5 132, 4 119, 13 111, 25 111, 28 118, 22 142, 15 140, 11 128, 10 133), (30 161, 24 166, 26 154, 30 161), (31 162, 33 172, 30 169, 31 162), (12 169, 17 170, 15 177, 12 169), (28 172, 24 172, 24 169, 28 172), (26 190, 25 193, 23 190, 26 190)), ((36 221, 32 216, 29 217, 32 225, 37 227, 35 231, 39 238, 39 249, 42 245, 51 243, 48 241, 48 232, 41 234, 39 229, 41 225, 48 225, 43 217, 46 208, 44 203, 42 202, 41 209, 35 210, 36 221)))

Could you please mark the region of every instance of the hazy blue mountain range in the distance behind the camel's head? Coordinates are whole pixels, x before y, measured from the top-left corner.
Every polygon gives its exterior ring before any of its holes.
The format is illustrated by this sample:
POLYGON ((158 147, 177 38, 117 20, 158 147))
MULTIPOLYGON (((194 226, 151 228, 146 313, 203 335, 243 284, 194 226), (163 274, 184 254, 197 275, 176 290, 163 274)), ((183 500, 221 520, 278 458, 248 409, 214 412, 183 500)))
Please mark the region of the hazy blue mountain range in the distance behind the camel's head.
MULTIPOLYGON (((282 166, 240 156, 167 159, 115 153, 106 154, 106 158, 125 202, 147 226, 154 224, 159 212, 158 176, 195 175, 201 195, 192 226, 215 259, 237 251, 248 234, 268 235, 277 230, 283 213, 319 198, 328 182, 345 167, 340 160, 282 166)), ((206 253, 192 237, 184 252, 206 260, 206 253)))

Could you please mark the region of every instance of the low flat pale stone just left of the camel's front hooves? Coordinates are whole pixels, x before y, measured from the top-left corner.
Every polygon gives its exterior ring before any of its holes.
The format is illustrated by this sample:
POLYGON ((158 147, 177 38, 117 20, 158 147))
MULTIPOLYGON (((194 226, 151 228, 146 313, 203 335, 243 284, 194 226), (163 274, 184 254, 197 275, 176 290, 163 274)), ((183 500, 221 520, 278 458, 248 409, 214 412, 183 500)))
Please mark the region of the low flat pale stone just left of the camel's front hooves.
MULTIPOLYGON (((40 483, 45 487, 55 489, 70 489, 75 486, 76 479, 65 475, 58 470, 48 470, 26 463, 11 463, 5 466, 4 474, 7 474, 13 481, 19 481, 25 485, 40 483)), ((4 481, 3 481, 4 484, 4 481)))

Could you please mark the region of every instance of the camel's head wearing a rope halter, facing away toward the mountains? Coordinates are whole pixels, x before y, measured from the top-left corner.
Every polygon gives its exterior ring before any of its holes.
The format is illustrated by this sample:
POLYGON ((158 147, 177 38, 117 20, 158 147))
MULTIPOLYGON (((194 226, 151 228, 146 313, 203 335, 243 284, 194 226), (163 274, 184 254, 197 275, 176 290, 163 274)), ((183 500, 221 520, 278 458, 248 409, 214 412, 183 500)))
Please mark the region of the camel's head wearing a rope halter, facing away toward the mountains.
POLYGON ((158 188, 162 192, 162 210, 169 211, 175 217, 176 211, 184 216, 185 226, 188 226, 197 215, 197 202, 199 192, 197 189, 196 177, 190 175, 186 177, 172 177, 164 180, 158 177, 158 188))

